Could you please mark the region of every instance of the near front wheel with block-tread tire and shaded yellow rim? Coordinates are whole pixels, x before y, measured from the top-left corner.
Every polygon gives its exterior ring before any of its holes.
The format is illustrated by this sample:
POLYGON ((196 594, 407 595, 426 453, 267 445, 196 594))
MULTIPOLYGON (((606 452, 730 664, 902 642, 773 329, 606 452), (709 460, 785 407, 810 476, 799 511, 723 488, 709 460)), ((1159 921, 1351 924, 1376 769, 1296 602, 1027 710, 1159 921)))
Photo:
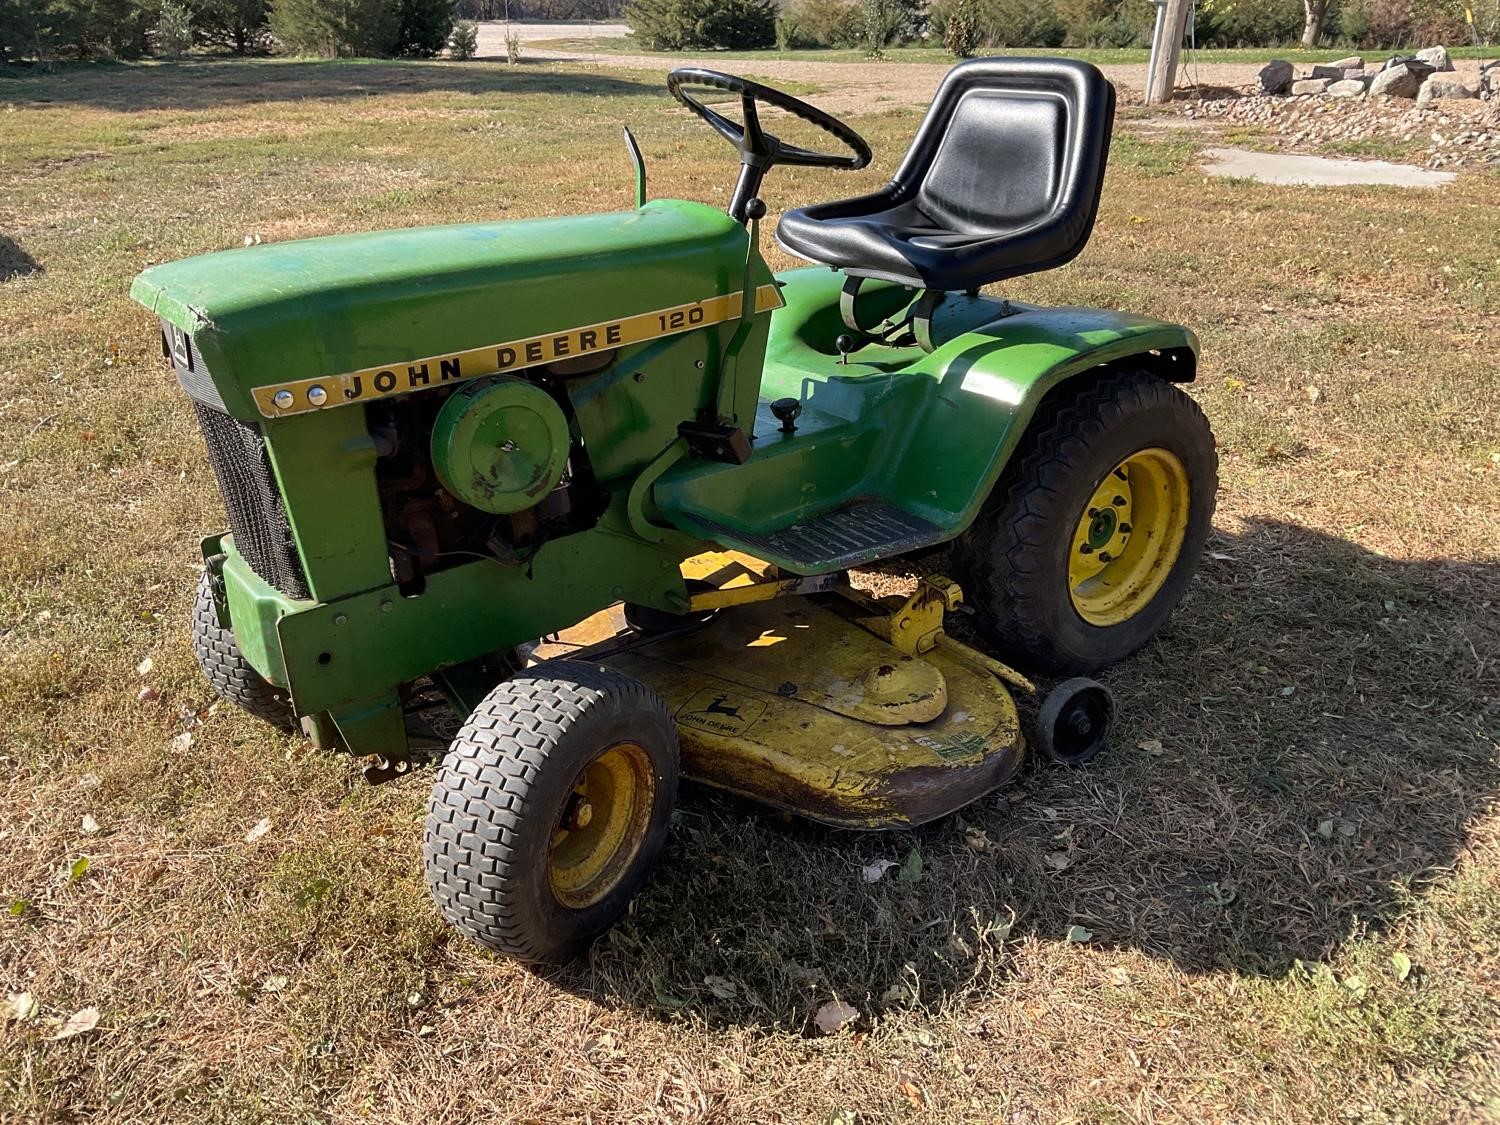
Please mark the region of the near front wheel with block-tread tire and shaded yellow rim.
POLYGON ((428 890, 480 945, 568 962, 645 884, 676 778, 676 728, 645 684, 567 660, 519 672, 474 708, 438 770, 428 890))

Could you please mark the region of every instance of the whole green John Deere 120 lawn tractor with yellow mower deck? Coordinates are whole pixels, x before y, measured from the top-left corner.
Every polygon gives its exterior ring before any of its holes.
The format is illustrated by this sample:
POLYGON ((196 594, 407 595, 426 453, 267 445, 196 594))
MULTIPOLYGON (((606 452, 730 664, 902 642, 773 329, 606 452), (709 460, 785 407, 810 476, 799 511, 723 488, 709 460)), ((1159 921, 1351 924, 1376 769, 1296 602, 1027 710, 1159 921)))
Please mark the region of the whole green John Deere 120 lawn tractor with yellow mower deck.
POLYGON ((766 172, 868 146, 744 78, 668 88, 738 152, 728 213, 648 202, 627 132, 632 210, 252 246, 132 288, 228 508, 204 672, 372 782, 441 753, 432 896, 532 963, 621 916, 680 771, 902 828, 1028 742, 1088 760, 1112 702, 1082 676, 1156 633, 1214 512, 1214 438, 1174 386, 1191 332, 981 296, 1083 249, 1096 69, 956 66, 885 188, 782 218, 814 262, 782 274, 766 172), (838 152, 766 132, 789 116, 838 152), (849 582, 940 544, 952 579, 849 582), (990 651, 1071 676, 1024 738, 1035 688, 948 634, 960 603, 990 651))

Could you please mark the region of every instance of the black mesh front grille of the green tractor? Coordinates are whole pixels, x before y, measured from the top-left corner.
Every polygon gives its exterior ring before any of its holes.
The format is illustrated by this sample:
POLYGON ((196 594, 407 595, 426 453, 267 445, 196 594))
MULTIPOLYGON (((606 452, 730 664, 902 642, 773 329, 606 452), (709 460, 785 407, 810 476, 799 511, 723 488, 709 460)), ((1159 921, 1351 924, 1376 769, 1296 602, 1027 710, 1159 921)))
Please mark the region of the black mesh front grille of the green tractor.
POLYGON ((230 510, 234 549, 286 597, 310 597, 297 543, 286 522, 276 472, 261 428, 194 402, 219 495, 230 510))

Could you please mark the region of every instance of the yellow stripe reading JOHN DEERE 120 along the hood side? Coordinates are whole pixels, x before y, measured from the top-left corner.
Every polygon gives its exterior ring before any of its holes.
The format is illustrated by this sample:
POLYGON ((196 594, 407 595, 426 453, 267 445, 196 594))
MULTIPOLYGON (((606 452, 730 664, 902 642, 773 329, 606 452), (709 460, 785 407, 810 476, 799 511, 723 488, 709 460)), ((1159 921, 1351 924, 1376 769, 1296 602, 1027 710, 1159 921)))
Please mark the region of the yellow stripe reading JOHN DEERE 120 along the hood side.
MULTIPOLYGON (((762 285, 756 290, 754 310, 758 314, 780 309, 784 303, 776 285, 762 285)), ((490 344, 447 356, 404 360, 381 368, 351 370, 345 375, 273 382, 267 387, 255 387, 250 393, 255 396, 256 408, 267 418, 309 414, 354 402, 410 394, 417 390, 441 387, 446 382, 536 368, 555 360, 586 356, 592 351, 675 336, 710 324, 723 324, 740 318, 740 292, 726 292, 615 321, 561 328, 542 336, 490 344)))

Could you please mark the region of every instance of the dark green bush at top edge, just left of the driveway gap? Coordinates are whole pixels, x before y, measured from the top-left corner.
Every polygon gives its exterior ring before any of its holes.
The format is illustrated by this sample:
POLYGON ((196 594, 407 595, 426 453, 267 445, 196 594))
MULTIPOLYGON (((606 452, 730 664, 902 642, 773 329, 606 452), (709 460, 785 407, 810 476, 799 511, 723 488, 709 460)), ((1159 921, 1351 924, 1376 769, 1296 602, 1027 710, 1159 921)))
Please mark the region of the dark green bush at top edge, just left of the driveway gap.
POLYGON ((291 54, 423 56, 442 50, 453 0, 274 0, 272 32, 291 54))

